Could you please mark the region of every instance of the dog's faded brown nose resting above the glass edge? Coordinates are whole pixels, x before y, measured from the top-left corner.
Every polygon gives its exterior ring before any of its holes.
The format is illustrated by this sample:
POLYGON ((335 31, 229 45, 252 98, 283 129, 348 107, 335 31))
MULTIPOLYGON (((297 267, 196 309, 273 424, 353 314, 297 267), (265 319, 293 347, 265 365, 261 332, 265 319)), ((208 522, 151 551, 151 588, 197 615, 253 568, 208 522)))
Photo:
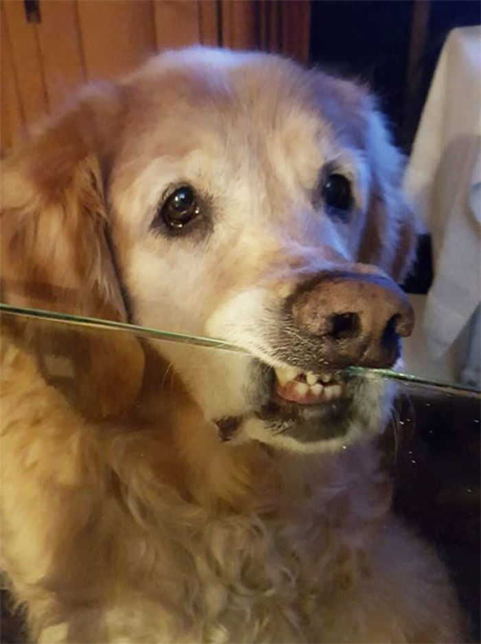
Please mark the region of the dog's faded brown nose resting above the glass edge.
POLYGON ((326 272, 289 298, 294 326, 308 336, 324 364, 342 368, 392 366, 399 337, 410 335, 414 312, 390 278, 365 272, 326 272))

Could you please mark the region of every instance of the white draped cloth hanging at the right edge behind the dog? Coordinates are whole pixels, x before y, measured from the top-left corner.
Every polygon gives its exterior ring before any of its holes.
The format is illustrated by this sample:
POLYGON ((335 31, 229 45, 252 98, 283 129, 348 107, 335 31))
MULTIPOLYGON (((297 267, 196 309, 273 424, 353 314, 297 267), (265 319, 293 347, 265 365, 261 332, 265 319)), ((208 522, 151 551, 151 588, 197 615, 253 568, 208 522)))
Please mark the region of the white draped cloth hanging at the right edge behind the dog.
POLYGON ((432 235, 434 282, 419 322, 436 359, 480 302, 481 26, 455 29, 447 38, 404 187, 432 235))

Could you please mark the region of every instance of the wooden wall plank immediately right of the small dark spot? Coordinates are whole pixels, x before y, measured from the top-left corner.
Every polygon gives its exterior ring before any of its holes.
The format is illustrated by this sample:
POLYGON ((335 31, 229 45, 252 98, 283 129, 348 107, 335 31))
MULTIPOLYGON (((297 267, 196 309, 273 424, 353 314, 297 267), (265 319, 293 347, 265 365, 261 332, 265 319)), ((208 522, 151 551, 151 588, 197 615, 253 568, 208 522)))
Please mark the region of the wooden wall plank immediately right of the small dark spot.
POLYGON ((49 105, 61 104, 85 82, 76 0, 41 2, 38 34, 43 78, 49 105))

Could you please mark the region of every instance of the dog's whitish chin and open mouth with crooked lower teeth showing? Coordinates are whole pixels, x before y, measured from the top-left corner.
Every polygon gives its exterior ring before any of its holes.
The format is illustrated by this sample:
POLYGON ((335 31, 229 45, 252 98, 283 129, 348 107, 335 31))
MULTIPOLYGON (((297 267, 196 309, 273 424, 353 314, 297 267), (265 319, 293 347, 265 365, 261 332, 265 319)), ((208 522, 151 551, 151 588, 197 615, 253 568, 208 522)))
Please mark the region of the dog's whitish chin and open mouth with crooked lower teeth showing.
POLYGON ((392 392, 381 379, 256 367, 256 406, 239 437, 300 452, 342 449, 382 430, 392 392))

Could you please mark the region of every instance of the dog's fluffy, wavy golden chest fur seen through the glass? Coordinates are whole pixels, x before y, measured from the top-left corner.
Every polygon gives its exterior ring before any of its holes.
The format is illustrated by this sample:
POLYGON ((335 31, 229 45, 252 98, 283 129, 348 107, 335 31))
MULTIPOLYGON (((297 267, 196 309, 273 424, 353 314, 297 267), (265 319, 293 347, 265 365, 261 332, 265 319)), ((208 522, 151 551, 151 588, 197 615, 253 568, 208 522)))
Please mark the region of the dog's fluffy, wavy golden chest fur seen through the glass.
POLYGON ((93 429, 56 389, 45 395, 23 351, 10 346, 2 371, 4 509, 16 518, 3 529, 17 535, 8 569, 27 595, 31 584, 45 593, 39 632, 61 627, 68 601, 79 612, 72 641, 89 640, 80 616, 96 606, 96 636, 108 641, 332 639, 332 606, 368 584, 366 553, 386 521, 389 486, 372 445, 308 457, 215 433, 194 445, 205 427, 185 405, 175 424, 172 390, 164 436, 138 422, 93 429), (58 586, 60 602, 49 597, 58 586))

